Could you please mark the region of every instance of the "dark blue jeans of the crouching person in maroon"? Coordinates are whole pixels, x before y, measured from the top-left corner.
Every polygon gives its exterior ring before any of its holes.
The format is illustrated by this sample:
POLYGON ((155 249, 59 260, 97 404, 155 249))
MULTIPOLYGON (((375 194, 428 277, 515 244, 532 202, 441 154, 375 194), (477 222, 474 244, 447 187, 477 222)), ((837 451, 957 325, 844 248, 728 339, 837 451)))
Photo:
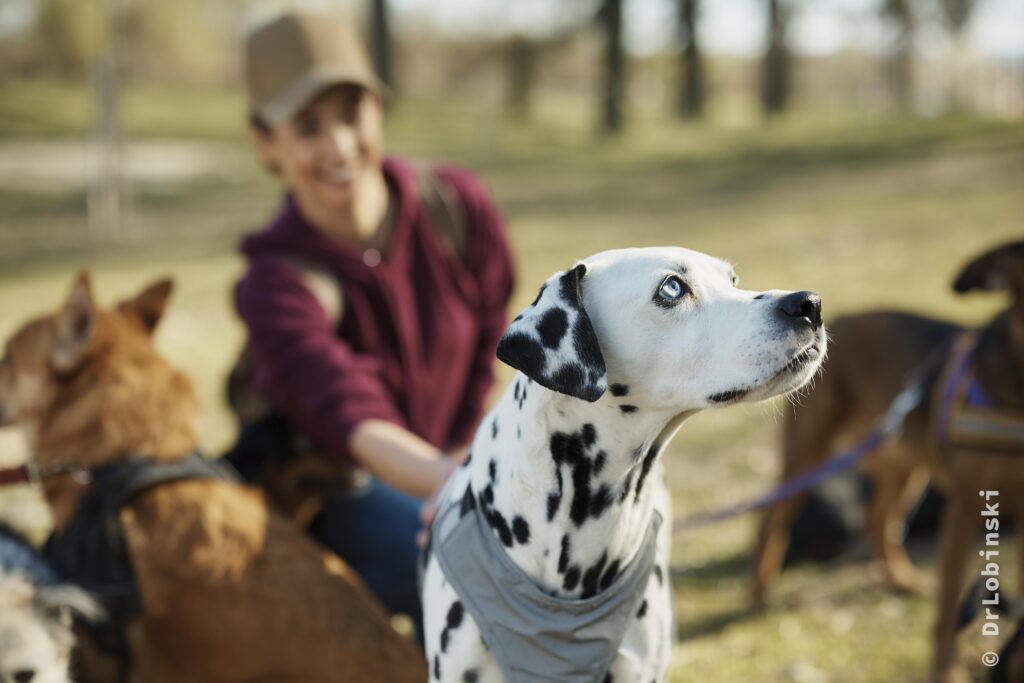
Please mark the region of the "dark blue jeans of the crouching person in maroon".
POLYGON ((422 632, 417 587, 423 502, 380 481, 331 501, 309 532, 358 573, 391 612, 408 614, 422 632))

